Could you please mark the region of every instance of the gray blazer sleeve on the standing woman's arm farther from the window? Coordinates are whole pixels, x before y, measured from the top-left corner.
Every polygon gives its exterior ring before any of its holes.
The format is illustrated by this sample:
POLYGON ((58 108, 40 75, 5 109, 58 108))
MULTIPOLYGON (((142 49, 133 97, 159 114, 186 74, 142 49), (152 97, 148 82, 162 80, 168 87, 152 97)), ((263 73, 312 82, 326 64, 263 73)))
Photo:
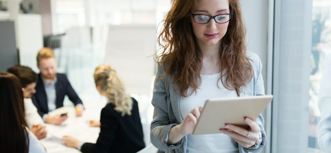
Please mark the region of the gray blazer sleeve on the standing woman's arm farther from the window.
POLYGON ((180 147, 184 142, 184 137, 175 145, 167 145, 165 140, 168 138, 170 128, 178 124, 170 124, 167 110, 167 93, 163 74, 163 67, 158 66, 156 78, 154 80, 152 105, 154 106, 153 120, 151 123, 151 142, 162 150, 172 150, 180 147))

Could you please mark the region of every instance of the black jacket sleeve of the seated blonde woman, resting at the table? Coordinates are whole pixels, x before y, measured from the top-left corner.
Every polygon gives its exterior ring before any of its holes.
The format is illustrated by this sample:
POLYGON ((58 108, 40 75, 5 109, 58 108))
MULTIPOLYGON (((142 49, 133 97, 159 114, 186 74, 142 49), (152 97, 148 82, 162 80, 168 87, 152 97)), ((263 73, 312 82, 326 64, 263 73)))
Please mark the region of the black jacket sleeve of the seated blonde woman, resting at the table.
POLYGON ((103 108, 101 110, 100 117, 100 133, 97 142, 94 143, 84 143, 81 147, 81 152, 83 153, 107 153, 109 149, 113 147, 113 141, 115 138, 115 132, 118 128, 118 120, 111 110, 103 108))

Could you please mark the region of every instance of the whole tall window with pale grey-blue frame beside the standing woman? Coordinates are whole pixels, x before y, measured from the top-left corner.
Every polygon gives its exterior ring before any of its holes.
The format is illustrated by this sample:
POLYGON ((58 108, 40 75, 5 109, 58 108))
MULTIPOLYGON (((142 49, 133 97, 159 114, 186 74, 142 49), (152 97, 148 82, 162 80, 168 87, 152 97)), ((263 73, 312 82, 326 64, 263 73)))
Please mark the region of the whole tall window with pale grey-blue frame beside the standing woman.
POLYGON ((331 53, 331 1, 275 0, 274 29, 272 152, 319 153, 317 100, 331 53))

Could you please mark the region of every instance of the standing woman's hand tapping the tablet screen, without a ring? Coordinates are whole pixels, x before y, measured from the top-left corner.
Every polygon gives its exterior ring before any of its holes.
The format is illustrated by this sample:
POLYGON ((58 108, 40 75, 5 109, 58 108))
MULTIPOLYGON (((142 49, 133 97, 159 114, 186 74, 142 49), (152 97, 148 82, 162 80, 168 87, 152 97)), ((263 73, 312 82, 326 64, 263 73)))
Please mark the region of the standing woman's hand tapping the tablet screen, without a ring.
POLYGON ((203 106, 196 107, 190 111, 184 118, 183 122, 179 125, 180 134, 191 134, 197 125, 203 106))

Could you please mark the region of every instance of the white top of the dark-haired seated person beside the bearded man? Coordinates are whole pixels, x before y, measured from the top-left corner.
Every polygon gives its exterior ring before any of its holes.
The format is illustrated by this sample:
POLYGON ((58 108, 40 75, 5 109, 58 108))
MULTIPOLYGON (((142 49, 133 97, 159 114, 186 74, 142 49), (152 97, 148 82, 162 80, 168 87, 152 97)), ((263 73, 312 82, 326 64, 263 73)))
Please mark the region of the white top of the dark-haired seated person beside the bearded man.
POLYGON ((25 121, 29 128, 32 125, 43 124, 44 121, 38 114, 37 108, 33 105, 31 98, 24 98, 25 121))

